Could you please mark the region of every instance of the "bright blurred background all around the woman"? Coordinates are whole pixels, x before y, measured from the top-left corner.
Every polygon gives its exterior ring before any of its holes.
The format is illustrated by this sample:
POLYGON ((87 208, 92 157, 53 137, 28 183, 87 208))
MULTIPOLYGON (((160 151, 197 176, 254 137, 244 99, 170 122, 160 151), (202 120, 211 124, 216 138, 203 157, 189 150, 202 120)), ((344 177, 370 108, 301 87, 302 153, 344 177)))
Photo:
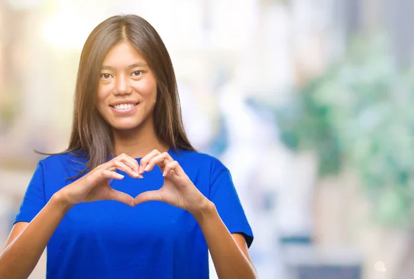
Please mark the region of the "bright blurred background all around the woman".
MULTIPOLYGON (((0 1, 0 241, 63 151, 79 55, 135 13, 170 51, 193 144, 233 173, 261 278, 414 275, 414 1, 0 1)), ((30 278, 45 278, 43 255, 30 278)), ((211 267, 212 278, 215 277, 211 267)))

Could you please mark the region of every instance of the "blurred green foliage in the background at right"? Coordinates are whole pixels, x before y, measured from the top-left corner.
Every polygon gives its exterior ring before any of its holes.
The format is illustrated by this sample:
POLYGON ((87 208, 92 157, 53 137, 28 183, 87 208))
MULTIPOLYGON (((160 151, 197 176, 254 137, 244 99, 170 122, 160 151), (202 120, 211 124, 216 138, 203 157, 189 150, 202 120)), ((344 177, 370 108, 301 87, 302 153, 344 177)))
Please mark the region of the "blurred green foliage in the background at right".
POLYGON ((320 175, 353 167, 375 220, 413 224, 414 70, 402 73, 384 40, 356 41, 348 56, 277 113, 282 141, 319 154, 320 175))

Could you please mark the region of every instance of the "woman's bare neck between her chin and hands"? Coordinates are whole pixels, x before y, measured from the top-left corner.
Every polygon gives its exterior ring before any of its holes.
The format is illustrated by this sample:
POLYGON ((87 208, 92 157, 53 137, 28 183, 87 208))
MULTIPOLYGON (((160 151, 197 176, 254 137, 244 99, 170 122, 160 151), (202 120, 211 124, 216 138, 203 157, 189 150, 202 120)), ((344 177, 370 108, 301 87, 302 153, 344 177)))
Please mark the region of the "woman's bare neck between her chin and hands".
POLYGON ((148 120, 131 130, 113 130, 115 155, 125 153, 133 158, 141 158, 154 149, 168 151, 170 146, 159 142, 152 119, 148 120))

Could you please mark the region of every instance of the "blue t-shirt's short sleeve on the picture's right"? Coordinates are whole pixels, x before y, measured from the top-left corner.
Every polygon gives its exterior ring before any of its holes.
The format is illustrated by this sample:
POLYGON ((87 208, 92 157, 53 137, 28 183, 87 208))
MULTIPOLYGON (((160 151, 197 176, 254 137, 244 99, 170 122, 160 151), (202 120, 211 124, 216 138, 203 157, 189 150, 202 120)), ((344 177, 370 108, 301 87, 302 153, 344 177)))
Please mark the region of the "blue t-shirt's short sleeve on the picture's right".
POLYGON ((253 242, 253 231, 233 184, 230 171, 224 169, 210 185, 210 200, 215 204, 221 220, 230 233, 242 233, 247 246, 253 242))

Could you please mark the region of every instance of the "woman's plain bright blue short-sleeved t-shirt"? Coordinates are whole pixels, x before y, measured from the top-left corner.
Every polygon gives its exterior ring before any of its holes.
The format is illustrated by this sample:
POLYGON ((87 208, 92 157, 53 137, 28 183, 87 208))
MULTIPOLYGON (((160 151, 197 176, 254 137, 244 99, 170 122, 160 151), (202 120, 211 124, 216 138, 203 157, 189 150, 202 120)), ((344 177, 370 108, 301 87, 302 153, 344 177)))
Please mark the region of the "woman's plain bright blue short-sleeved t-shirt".
MULTIPOLYGON (((230 233, 242 233, 250 247, 253 233, 224 164, 203 153, 168 153, 214 202, 230 233)), ((74 160, 86 162, 63 154, 37 164, 15 222, 30 222, 54 193, 73 182, 66 178, 84 168, 74 160)), ((111 186, 134 198, 164 182, 157 166, 143 179, 122 174, 124 179, 111 186)), ((208 278, 208 247, 193 215, 170 204, 81 203, 68 211, 48 242, 46 278, 208 278)))

